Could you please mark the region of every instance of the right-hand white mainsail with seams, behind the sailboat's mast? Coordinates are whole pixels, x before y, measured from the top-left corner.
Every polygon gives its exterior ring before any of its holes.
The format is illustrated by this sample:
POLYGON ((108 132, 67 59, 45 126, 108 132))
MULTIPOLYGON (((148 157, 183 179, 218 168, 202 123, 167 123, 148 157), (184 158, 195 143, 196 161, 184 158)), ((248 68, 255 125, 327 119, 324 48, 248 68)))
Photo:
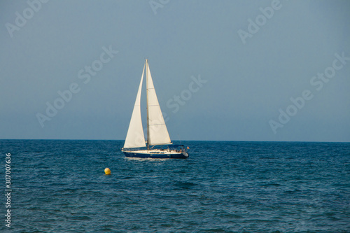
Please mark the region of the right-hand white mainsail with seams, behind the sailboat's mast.
POLYGON ((147 142, 148 145, 171 144, 167 125, 160 110, 153 85, 151 72, 146 59, 146 92, 147 92, 147 142))

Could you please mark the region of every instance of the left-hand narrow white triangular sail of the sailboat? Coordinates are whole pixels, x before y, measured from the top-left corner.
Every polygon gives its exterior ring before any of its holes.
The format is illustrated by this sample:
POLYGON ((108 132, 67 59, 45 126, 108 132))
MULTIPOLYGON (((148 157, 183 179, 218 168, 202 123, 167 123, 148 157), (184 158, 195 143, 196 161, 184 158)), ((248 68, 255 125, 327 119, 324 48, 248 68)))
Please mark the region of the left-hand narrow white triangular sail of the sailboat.
MULTIPOLYGON (((145 71, 145 66, 144 66, 145 71)), ((139 85, 139 91, 132 111, 132 118, 130 120, 129 129, 127 130, 127 138, 125 139, 124 148, 137 148, 146 146, 144 129, 142 128, 141 120, 141 89, 142 81, 144 80, 144 71, 142 71, 141 82, 139 85)))

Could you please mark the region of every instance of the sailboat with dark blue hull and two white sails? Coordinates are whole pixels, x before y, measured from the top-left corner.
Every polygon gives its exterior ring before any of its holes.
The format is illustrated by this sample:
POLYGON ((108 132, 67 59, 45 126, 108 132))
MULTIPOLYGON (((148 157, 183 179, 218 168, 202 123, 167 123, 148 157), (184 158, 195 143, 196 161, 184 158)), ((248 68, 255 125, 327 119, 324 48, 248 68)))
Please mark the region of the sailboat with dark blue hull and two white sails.
POLYGON ((132 118, 130 120, 127 137, 122 152, 126 157, 143 157, 156 159, 186 159, 188 158, 187 148, 183 145, 172 145, 167 125, 160 110, 157 94, 148 66, 148 59, 144 64, 139 90, 137 92, 132 118), (144 129, 141 120, 141 89, 146 69, 146 98, 147 98, 147 141, 144 136, 144 129), (155 148, 160 146, 162 148, 155 148), (166 148, 165 148, 166 147, 166 148))

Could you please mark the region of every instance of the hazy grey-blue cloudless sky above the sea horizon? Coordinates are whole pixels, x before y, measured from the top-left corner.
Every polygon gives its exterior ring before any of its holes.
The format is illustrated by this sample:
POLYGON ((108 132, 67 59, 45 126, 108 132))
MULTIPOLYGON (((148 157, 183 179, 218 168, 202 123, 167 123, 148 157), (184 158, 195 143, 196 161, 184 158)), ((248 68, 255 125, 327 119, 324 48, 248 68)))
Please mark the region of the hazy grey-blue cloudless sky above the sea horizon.
POLYGON ((350 141, 350 1, 0 2, 0 139, 350 141), (146 97, 141 101, 146 126, 146 97))

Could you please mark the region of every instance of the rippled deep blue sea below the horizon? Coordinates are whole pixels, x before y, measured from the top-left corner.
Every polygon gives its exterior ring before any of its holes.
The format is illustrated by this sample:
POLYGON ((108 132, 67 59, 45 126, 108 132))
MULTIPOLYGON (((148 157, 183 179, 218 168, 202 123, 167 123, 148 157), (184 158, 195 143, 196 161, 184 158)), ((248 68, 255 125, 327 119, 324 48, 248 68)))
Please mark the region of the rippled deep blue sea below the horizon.
POLYGON ((123 143, 0 140, 0 232, 350 232, 350 143, 123 143))

